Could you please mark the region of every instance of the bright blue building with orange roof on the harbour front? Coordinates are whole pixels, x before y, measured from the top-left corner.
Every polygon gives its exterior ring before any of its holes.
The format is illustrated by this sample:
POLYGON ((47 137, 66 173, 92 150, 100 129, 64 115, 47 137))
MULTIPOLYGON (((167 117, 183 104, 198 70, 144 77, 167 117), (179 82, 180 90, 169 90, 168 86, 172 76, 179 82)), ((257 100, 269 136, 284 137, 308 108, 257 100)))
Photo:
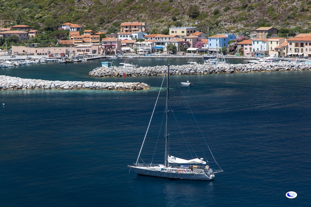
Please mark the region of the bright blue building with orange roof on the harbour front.
POLYGON ((228 42, 233 39, 236 39, 235 34, 217 34, 208 37, 208 50, 216 53, 221 47, 228 47, 228 42))

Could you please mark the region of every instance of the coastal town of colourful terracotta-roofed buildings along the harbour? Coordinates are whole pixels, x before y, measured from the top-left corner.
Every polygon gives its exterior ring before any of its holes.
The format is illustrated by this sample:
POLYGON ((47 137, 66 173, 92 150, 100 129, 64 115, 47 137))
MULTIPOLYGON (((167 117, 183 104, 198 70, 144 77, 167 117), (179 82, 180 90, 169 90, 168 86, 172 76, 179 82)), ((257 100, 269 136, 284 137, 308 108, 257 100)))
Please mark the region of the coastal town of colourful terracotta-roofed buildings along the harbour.
MULTIPOLYGON (((59 40, 63 47, 40 47, 38 43, 14 46, 7 51, 12 56, 82 56, 93 57, 135 54, 138 56, 233 54, 239 57, 265 56, 310 58, 311 34, 297 34, 291 38, 278 37, 278 29, 259 27, 246 36, 233 33, 209 35, 199 32, 196 26, 169 27, 169 34, 147 34, 144 22, 123 22, 119 32, 105 34, 83 30, 82 25, 64 23, 60 30, 68 30, 67 40, 59 40), (101 38, 104 36, 104 38, 101 38)), ((28 25, 1 28, 0 37, 35 39, 38 30, 28 25)))

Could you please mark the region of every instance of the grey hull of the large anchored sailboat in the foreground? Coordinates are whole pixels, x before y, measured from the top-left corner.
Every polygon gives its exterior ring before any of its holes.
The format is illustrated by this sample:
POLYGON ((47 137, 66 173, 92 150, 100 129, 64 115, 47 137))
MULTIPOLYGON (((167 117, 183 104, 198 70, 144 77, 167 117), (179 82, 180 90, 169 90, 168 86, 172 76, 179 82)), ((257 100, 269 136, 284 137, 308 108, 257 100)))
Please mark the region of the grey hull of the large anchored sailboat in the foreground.
POLYGON ((169 171, 157 167, 129 166, 137 175, 184 180, 214 180, 215 175, 207 172, 169 171))

